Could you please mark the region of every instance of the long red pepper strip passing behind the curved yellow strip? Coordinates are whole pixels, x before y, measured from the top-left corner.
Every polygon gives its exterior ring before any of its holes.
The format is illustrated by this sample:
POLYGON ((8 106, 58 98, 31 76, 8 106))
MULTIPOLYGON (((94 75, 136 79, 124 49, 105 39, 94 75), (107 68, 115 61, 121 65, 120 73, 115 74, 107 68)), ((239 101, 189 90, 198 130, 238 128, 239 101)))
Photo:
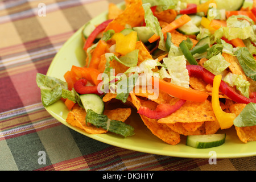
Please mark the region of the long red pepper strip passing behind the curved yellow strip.
MULTIPOLYGON (((213 84, 214 76, 213 73, 209 72, 207 69, 200 67, 199 65, 187 65, 189 76, 195 76, 202 78, 208 84, 213 84)), ((228 96, 231 100, 239 104, 249 104, 250 102, 256 103, 256 94, 250 94, 251 98, 241 96, 235 92, 230 86, 228 86, 224 81, 221 81, 220 91, 228 96)))

